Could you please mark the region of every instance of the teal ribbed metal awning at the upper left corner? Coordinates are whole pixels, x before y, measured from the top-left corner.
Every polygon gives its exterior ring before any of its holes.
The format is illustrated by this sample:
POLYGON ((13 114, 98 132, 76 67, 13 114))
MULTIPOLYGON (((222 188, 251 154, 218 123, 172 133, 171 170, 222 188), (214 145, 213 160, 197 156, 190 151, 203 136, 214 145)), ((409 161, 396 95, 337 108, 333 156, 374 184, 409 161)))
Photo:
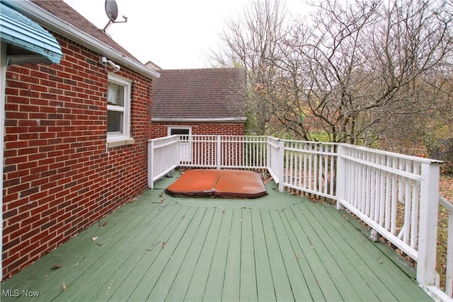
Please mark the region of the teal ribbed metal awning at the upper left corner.
MULTIPOLYGON (((2 42, 14 47, 40 54, 42 56, 40 62, 59 64, 62 59, 62 49, 53 35, 38 23, 1 2, 0 38, 2 42)), ((30 61, 37 62, 36 59, 30 59, 30 61)))

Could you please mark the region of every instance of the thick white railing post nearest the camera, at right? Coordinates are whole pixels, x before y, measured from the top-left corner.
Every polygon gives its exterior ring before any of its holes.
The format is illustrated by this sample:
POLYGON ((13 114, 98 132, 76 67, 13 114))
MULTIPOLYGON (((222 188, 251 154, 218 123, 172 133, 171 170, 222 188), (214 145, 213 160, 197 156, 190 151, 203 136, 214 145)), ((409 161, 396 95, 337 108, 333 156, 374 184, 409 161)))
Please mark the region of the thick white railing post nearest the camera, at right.
POLYGON ((417 281, 420 285, 435 285, 439 175, 437 163, 422 163, 417 260, 417 281))

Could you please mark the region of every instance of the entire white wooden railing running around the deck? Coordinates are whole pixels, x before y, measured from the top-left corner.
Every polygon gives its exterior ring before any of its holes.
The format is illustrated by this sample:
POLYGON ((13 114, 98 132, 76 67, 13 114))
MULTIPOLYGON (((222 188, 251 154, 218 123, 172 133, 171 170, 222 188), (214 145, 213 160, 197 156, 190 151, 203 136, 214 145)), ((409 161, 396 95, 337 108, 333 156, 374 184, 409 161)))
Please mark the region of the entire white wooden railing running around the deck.
MULTIPOLYGON (((435 285, 440 161, 275 137, 190 135, 149 144, 149 187, 177 166, 265 168, 280 192, 290 188, 336 200, 338 209, 348 209, 417 261, 421 285, 435 285)), ((452 224, 449 228, 453 245, 452 224)), ((449 252, 451 259, 452 248, 449 252)), ((452 265, 447 269, 450 285, 452 265)))

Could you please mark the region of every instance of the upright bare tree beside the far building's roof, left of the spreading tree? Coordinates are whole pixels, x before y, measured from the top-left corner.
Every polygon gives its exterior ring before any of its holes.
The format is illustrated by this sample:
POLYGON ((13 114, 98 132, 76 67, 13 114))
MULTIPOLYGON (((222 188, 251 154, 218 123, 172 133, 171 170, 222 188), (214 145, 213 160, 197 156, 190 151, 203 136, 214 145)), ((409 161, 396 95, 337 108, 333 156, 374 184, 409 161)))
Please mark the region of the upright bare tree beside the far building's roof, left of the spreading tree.
POLYGON ((248 127, 256 134, 270 134, 273 122, 263 81, 273 77, 270 60, 278 57, 280 35, 285 30, 287 10, 280 1, 256 1, 236 20, 226 22, 219 35, 221 50, 212 52, 213 66, 245 67, 248 83, 248 127))

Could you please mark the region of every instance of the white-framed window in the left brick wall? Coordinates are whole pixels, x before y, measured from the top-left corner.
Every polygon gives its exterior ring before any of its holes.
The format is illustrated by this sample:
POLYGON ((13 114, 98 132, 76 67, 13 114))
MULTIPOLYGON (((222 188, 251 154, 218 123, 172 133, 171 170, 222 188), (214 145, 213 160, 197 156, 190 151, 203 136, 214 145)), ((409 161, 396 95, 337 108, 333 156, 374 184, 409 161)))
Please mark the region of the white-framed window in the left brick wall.
POLYGON ((131 84, 132 81, 115 74, 108 74, 107 141, 109 147, 133 143, 130 137, 131 84))

